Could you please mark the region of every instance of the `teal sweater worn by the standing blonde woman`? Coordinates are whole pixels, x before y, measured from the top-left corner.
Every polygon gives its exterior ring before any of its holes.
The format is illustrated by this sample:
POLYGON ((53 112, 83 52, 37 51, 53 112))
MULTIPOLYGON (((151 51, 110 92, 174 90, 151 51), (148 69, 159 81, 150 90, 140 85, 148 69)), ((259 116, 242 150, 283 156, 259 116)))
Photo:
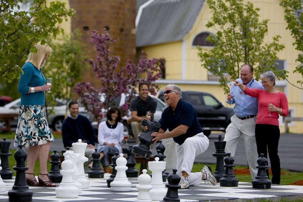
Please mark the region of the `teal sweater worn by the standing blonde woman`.
POLYGON ((20 105, 45 105, 45 92, 38 91, 28 93, 29 87, 43 86, 45 77, 41 69, 38 70, 31 62, 26 62, 23 67, 21 77, 18 83, 18 92, 21 94, 20 105))

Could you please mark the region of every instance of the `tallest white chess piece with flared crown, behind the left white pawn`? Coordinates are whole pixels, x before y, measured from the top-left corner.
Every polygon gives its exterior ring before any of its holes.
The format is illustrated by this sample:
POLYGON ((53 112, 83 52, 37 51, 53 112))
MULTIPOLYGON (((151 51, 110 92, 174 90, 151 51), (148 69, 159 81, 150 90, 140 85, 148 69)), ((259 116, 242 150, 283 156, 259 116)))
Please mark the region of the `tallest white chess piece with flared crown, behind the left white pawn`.
POLYGON ((88 189, 89 180, 86 178, 84 172, 84 162, 88 161, 88 158, 85 157, 85 150, 87 147, 87 143, 83 143, 82 140, 79 139, 78 142, 74 142, 72 146, 74 148, 75 154, 80 154, 79 161, 77 162, 77 166, 80 173, 78 177, 78 181, 80 184, 82 184, 82 189, 88 189))

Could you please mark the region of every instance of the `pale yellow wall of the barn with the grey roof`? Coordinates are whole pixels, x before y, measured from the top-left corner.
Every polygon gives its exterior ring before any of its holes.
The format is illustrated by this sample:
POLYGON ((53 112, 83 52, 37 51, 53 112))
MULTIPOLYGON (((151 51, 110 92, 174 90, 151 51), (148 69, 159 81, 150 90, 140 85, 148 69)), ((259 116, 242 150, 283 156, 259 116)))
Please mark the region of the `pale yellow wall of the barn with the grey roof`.
MULTIPOLYGON (((251 0, 255 8, 260 8, 259 15, 260 20, 269 19, 268 22, 268 34, 265 36, 265 43, 272 42, 272 37, 280 35, 281 38, 279 43, 285 45, 285 49, 278 53, 279 60, 286 60, 286 69, 290 72, 289 81, 296 84, 296 81, 301 80, 302 76, 293 74, 293 70, 297 63, 295 59, 298 56, 298 51, 292 45, 294 39, 291 37, 290 31, 286 30, 287 24, 284 21, 284 9, 279 6, 278 0, 251 0)), ((214 29, 206 28, 206 23, 211 20, 211 12, 207 3, 205 2, 201 12, 197 16, 197 19, 188 32, 183 38, 183 41, 165 43, 160 45, 146 46, 142 49, 148 54, 148 57, 163 57, 166 59, 166 80, 180 80, 182 77, 184 81, 178 81, 176 84, 181 87, 182 90, 193 90, 193 91, 205 91, 213 94, 219 101, 225 103, 226 95, 219 85, 211 84, 185 84, 186 81, 208 81, 208 72, 205 68, 201 67, 201 62, 197 56, 198 50, 195 46, 192 46, 192 41, 195 36, 201 32, 215 33, 214 29), (182 73, 182 43, 185 44, 185 75, 182 73)), ((204 47, 210 48, 210 47, 204 47)), ((160 82, 161 89, 164 89, 166 84, 165 81, 160 82)), ((284 92, 288 98, 288 105, 290 109, 294 110, 295 117, 303 117, 303 91, 291 86, 286 82, 282 84, 284 92)), ((279 88, 281 88, 279 87, 279 88)), ((225 104, 226 107, 230 105, 225 104)), ((280 125, 281 132, 284 132, 284 124, 280 125)), ((303 133, 303 123, 296 121, 289 125, 289 132, 291 133, 303 133)))

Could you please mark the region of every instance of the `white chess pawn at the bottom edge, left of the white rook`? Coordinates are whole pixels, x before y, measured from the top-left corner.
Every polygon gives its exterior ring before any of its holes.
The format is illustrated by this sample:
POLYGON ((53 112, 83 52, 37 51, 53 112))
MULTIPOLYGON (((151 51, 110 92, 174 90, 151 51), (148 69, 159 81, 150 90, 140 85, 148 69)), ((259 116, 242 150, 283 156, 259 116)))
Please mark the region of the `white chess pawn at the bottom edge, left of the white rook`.
MULTIPOLYGON (((149 190, 151 190, 151 177, 146 174, 147 170, 142 170, 143 174, 138 177, 138 185, 137 189, 139 190, 138 197, 135 202, 152 202, 149 194, 149 190)), ((161 174, 162 175, 162 174, 161 174)), ((162 177, 162 176, 161 176, 162 177)))

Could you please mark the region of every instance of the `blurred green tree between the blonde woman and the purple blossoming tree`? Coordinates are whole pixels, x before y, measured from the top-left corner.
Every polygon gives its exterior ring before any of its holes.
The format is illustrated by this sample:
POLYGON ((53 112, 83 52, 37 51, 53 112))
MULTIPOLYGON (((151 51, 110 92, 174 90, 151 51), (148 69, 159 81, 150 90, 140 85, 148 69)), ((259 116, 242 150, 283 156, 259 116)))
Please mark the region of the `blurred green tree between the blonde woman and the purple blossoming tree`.
MULTIPOLYGON (((57 100, 67 104, 72 99, 74 85, 82 79, 82 73, 89 66, 84 62, 85 45, 81 42, 81 34, 78 30, 59 40, 51 40, 48 45, 52 48, 52 54, 48 56, 43 68, 45 78, 52 78, 52 93, 45 93, 46 105, 56 106, 57 100)), ((52 108, 47 114, 52 113, 52 108)))

